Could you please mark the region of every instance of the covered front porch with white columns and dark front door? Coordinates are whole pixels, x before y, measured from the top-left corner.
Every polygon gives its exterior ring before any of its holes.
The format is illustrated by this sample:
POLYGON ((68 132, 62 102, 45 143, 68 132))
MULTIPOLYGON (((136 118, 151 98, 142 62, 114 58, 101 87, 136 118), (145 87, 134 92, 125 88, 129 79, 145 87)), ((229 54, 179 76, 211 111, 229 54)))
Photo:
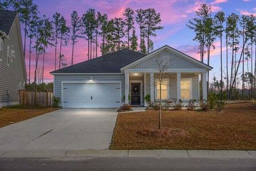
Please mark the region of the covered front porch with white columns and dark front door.
MULTIPOLYGON (((150 95, 151 101, 160 99, 160 86, 157 81, 158 72, 125 71, 125 103, 133 106, 147 106, 145 96, 150 95)), ((162 80, 162 100, 184 101, 189 99, 207 99, 207 74, 201 71, 168 72, 162 80), (202 78, 202 90, 200 81, 202 78)))

